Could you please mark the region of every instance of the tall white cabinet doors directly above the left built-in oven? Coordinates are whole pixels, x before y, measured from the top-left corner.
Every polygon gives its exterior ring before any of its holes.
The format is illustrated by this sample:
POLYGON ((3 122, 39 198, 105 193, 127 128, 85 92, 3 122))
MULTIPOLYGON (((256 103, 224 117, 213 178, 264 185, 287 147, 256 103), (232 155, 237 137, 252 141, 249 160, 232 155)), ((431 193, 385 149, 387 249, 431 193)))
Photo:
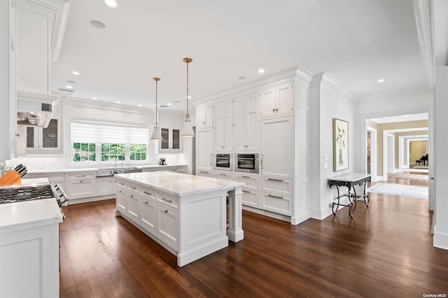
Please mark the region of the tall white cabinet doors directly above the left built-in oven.
POLYGON ((224 101, 214 106, 214 150, 233 149, 233 102, 224 101))

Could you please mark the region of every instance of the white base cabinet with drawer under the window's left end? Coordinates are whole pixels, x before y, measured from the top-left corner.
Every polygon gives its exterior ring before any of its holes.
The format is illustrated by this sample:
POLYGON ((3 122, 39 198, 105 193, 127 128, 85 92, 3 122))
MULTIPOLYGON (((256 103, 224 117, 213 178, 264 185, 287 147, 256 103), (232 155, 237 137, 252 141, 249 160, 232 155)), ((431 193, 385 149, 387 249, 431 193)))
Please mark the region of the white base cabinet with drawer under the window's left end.
POLYGON ((67 192, 69 199, 94 197, 96 171, 66 174, 67 192))

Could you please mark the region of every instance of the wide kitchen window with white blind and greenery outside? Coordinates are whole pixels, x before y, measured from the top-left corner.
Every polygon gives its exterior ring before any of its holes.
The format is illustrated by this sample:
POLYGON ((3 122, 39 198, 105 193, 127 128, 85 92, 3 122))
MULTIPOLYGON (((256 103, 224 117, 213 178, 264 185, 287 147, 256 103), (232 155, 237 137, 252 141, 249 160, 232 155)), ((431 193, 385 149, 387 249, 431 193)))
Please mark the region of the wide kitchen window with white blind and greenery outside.
POLYGON ((148 141, 146 127, 71 122, 73 162, 146 161, 148 141))

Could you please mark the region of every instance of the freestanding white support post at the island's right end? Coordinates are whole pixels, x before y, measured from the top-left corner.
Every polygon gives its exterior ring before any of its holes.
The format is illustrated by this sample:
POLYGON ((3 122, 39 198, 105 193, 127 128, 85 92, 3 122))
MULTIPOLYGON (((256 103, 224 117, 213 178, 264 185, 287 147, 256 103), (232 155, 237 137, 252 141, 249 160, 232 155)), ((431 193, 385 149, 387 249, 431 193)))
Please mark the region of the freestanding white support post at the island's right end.
POLYGON ((227 236, 230 241, 238 242, 244 239, 243 211, 241 207, 243 191, 241 186, 229 192, 229 229, 227 236))

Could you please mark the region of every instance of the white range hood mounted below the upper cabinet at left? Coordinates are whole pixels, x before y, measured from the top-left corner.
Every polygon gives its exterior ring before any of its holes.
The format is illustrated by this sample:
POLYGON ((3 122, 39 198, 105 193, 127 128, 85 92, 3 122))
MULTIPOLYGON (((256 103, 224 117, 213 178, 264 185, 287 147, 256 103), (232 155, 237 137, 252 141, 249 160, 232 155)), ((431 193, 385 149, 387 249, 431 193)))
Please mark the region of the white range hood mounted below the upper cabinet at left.
POLYGON ((17 92, 17 124, 48 127, 59 98, 49 94, 17 92))

